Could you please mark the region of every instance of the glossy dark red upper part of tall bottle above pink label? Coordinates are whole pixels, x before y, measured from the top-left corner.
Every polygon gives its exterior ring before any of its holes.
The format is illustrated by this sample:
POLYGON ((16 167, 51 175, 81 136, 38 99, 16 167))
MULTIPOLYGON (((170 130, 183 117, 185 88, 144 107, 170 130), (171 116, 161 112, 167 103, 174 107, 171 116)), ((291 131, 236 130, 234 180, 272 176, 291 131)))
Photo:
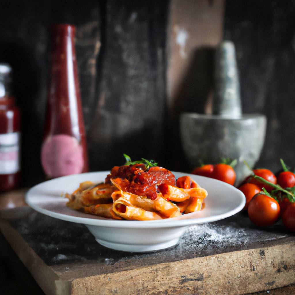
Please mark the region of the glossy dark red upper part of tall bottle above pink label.
POLYGON ((74 36, 75 27, 71 25, 58 24, 50 28, 50 86, 45 136, 71 134, 80 140, 83 119, 74 36))

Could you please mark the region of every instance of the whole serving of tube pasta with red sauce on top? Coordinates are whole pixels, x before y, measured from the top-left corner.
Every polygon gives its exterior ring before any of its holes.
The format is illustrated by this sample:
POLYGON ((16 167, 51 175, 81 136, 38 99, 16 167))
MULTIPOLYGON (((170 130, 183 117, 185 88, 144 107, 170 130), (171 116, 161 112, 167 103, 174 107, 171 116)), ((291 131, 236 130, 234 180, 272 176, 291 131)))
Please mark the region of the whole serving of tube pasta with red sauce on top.
POLYGON ((69 208, 88 214, 112 219, 157 220, 201 210, 207 191, 189 176, 176 181, 165 168, 130 164, 115 166, 104 183, 80 183, 76 191, 65 197, 69 199, 69 208))

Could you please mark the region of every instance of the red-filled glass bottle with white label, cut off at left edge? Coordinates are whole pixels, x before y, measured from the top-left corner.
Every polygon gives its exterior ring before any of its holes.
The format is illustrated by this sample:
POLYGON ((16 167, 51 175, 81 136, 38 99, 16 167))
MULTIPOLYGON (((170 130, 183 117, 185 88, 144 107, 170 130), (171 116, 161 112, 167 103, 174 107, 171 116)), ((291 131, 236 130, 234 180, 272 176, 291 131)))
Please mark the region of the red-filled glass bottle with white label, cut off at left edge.
POLYGON ((12 69, 0 63, 0 192, 19 186, 20 112, 12 95, 12 69))

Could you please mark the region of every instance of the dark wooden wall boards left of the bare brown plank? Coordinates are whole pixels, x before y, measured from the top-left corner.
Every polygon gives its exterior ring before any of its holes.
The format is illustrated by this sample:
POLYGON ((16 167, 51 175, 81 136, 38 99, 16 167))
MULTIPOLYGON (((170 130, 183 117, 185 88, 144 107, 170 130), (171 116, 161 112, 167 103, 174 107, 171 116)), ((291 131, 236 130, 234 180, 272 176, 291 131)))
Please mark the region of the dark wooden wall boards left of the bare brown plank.
POLYGON ((50 23, 77 26, 76 52, 91 170, 164 160, 168 1, 1 1, 0 60, 22 110, 24 184, 42 181, 50 23), (75 4, 76 3, 76 4, 75 4))

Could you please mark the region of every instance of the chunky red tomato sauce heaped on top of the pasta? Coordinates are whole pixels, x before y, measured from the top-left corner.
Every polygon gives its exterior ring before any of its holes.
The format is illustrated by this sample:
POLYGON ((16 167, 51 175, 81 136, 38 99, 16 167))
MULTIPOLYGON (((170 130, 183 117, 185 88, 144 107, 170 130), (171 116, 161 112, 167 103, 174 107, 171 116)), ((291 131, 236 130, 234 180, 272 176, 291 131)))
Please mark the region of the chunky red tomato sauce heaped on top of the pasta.
POLYGON ((151 200, 157 198, 157 193, 160 192, 159 186, 163 184, 176 185, 175 176, 171 171, 162 167, 144 169, 145 165, 143 164, 115 166, 112 168, 111 174, 106 177, 105 182, 110 183, 112 178, 123 191, 146 196, 151 200))

